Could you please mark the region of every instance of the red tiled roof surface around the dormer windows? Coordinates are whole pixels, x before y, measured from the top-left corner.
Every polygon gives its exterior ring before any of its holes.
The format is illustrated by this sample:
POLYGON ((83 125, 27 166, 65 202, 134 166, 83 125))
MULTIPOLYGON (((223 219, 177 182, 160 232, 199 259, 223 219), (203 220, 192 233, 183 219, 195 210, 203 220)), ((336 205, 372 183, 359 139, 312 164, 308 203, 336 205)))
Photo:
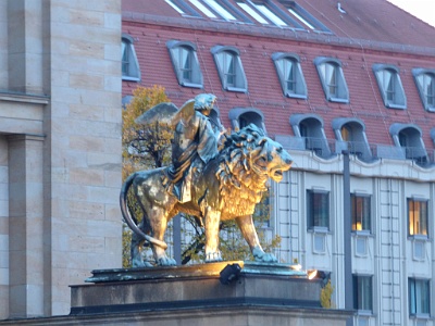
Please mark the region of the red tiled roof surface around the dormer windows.
POLYGON ((137 86, 163 85, 171 100, 183 104, 199 92, 217 97, 221 118, 229 127, 233 108, 256 108, 264 113, 268 133, 293 135, 289 116, 315 113, 324 121, 326 137, 334 139, 331 127, 336 117, 358 117, 365 124, 370 143, 391 145, 393 123, 415 124, 423 130, 427 149, 434 149, 430 130, 435 113, 426 112, 415 87, 412 68, 435 68, 435 28, 384 0, 341 1, 347 14, 337 10, 337 1, 297 1, 333 34, 295 32, 278 27, 216 22, 183 17, 163 0, 123 0, 123 32, 135 40, 142 80, 124 82, 129 95, 137 86), (166 41, 188 40, 197 45, 204 88, 178 85, 166 41), (364 40, 364 41, 361 41, 364 40), (210 49, 215 45, 233 46, 248 79, 248 92, 222 89, 210 49), (275 67, 274 52, 300 57, 308 87, 308 100, 283 96, 275 67), (323 93, 313 61, 316 57, 337 58, 349 88, 350 103, 328 102, 323 93), (372 65, 396 65, 407 96, 407 110, 386 109, 380 95, 372 65))

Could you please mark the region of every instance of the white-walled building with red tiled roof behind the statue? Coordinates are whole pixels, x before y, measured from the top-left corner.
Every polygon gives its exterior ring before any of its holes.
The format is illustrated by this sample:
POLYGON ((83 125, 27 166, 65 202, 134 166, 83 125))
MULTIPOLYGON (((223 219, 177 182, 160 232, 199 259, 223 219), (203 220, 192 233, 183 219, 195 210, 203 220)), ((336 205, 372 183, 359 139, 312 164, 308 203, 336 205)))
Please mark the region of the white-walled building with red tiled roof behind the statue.
POLYGON ((212 92, 226 128, 291 153, 282 262, 330 277, 355 325, 434 325, 434 27, 385 0, 124 0, 122 25, 124 103, 212 92))

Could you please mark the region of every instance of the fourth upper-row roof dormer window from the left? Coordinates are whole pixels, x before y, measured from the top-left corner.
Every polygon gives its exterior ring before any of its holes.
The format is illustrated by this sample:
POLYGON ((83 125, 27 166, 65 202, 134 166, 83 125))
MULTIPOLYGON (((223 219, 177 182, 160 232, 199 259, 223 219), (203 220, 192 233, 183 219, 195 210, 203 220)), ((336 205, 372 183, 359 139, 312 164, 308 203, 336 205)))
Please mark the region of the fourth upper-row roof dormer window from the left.
POLYGON ((299 57, 290 53, 272 54, 283 93, 289 98, 307 98, 307 84, 299 63, 299 57))

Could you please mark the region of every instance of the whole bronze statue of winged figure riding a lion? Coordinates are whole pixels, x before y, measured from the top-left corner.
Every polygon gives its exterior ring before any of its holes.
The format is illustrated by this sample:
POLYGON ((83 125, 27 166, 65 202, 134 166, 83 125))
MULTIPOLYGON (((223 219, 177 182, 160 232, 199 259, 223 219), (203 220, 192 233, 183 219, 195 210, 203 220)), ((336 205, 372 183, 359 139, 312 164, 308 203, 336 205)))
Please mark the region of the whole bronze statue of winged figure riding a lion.
POLYGON ((161 103, 136 120, 142 124, 166 120, 174 127, 174 139, 170 166, 135 172, 121 189, 121 211, 134 231, 134 267, 150 265, 140 255, 144 240, 150 243, 157 264, 176 264, 165 253, 163 237, 167 223, 178 213, 194 215, 204 226, 206 262, 222 261, 219 226, 227 220, 235 220, 256 261, 276 262, 273 254, 263 251, 252 214, 268 179, 281 181, 290 168, 291 156, 253 124, 225 136, 219 149, 222 131, 215 130, 209 118, 214 101, 213 95, 206 93, 179 110, 161 103), (128 210, 130 189, 142 213, 139 224, 128 210))

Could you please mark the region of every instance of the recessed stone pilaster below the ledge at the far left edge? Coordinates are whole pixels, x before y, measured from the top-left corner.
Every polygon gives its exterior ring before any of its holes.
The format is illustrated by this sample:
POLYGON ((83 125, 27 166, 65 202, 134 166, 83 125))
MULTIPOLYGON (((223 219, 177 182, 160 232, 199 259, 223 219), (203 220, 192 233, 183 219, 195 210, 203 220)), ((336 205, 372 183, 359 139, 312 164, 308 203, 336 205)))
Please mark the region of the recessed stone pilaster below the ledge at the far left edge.
MULTIPOLYGON (((9 312, 44 315, 42 140, 9 136, 9 312)), ((50 262, 48 262, 50 263, 50 262)))

